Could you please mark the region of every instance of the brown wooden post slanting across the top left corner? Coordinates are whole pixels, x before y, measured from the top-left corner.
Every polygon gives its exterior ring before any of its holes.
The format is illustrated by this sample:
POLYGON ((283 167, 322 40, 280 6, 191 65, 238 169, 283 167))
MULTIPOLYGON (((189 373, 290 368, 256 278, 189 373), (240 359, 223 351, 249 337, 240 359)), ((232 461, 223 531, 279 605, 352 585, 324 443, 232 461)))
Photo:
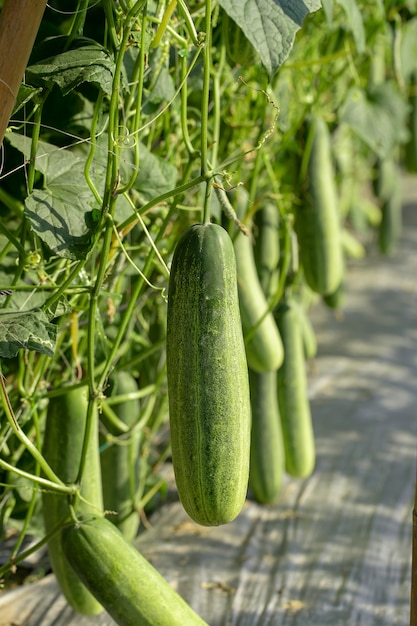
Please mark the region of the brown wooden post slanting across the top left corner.
POLYGON ((5 0, 0 13, 0 144, 47 0, 5 0))

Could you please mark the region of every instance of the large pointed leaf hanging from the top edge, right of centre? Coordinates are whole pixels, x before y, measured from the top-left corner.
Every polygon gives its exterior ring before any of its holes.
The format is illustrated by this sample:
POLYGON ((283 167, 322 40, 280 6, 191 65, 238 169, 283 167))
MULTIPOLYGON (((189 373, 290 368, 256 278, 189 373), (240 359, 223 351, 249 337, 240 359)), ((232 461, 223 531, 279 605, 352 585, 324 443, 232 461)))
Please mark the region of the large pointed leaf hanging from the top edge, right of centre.
POLYGON ((284 63, 305 17, 321 7, 320 0, 219 0, 242 29, 269 76, 284 63))

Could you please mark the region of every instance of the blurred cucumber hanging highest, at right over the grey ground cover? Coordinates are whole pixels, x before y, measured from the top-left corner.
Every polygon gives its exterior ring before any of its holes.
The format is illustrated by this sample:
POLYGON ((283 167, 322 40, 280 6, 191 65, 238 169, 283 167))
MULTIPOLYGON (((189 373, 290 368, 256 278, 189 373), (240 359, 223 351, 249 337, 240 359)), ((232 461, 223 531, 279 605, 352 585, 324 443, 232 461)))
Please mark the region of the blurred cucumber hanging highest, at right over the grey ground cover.
POLYGON ((307 284, 313 291, 327 294, 337 289, 344 274, 339 200, 328 126, 315 117, 310 132, 306 188, 296 210, 295 230, 307 284))

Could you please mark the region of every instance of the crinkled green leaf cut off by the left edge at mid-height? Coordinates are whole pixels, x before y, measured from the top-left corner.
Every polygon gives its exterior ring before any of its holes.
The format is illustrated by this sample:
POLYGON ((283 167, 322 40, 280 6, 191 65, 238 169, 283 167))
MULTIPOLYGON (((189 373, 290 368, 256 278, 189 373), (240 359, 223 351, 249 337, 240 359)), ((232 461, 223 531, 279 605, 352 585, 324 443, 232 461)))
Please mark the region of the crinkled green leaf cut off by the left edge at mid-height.
POLYGON ((11 359, 22 349, 54 356, 56 335, 41 310, 0 311, 0 357, 11 359))

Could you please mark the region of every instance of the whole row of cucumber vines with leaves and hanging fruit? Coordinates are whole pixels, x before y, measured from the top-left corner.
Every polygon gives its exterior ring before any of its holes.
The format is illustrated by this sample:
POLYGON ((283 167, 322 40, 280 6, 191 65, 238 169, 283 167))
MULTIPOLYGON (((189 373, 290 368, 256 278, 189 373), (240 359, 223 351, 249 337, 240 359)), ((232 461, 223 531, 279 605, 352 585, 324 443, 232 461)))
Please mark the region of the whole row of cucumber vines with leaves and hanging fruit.
POLYGON ((163 464, 206 525, 311 474, 309 309, 417 171, 414 4, 48 5, 1 152, 6 587, 48 543, 77 611, 204 623, 132 546, 163 464))

